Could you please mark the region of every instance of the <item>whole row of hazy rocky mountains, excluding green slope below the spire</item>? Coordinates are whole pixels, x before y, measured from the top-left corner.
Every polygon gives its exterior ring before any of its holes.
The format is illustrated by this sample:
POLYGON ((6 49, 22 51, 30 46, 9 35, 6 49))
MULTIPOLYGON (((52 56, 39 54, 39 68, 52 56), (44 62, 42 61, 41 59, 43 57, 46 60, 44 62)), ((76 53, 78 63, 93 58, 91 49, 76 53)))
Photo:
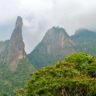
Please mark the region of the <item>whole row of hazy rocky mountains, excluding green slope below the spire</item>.
POLYGON ((22 18, 18 16, 10 40, 0 42, 0 62, 6 64, 11 71, 15 71, 19 61, 25 58, 29 59, 35 68, 41 68, 75 51, 96 55, 96 32, 79 29, 74 35, 69 36, 61 27, 49 29, 42 41, 27 55, 22 26, 22 18))

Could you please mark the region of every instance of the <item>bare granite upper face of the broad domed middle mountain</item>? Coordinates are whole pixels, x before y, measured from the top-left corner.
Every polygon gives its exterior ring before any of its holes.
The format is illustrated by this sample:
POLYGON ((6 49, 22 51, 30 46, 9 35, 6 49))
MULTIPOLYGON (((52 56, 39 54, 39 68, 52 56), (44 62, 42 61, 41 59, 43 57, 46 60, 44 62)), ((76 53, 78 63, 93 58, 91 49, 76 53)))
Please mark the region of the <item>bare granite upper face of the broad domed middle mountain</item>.
POLYGON ((45 34, 42 40, 43 45, 46 46, 47 54, 68 54, 72 49, 73 41, 63 28, 53 27, 45 34))

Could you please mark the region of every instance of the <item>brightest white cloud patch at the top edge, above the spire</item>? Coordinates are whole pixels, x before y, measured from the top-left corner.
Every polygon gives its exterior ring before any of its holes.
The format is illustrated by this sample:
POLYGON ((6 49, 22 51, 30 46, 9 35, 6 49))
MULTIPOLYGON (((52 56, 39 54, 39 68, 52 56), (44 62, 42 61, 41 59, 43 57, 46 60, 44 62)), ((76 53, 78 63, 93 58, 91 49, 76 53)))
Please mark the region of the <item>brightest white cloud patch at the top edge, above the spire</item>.
POLYGON ((51 0, 17 0, 19 8, 41 13, 52 7, 51 0))

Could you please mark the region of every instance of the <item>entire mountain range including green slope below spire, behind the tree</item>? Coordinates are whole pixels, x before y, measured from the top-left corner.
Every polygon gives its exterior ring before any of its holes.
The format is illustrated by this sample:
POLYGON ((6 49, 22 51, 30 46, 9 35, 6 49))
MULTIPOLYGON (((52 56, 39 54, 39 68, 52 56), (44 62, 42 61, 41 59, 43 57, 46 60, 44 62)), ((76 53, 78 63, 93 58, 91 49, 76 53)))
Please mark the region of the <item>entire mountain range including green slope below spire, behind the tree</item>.
POLYGON ((49 29, 37 47, 26 54, 22 26, 18 16, 10 40, 0 41, 0 96, 14 96, 12 90, 24 86, 30 72, 54 64, 72 52, 96 55, 96 32, 79 29, 69 36, 60 27, 49 29))

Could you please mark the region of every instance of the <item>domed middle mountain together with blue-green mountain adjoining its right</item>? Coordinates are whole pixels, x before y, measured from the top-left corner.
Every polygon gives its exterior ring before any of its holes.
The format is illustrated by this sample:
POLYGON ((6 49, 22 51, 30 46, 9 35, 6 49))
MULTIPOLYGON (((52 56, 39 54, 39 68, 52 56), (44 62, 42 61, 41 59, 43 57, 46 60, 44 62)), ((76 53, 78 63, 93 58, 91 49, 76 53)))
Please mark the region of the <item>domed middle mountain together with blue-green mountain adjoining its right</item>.
POLYGON ((40 68, 75 51, 96 55, 96 32, 79 29, 69 36, 63 28, 53 27, 46 32, 28 58, 36 68, 40 68))

